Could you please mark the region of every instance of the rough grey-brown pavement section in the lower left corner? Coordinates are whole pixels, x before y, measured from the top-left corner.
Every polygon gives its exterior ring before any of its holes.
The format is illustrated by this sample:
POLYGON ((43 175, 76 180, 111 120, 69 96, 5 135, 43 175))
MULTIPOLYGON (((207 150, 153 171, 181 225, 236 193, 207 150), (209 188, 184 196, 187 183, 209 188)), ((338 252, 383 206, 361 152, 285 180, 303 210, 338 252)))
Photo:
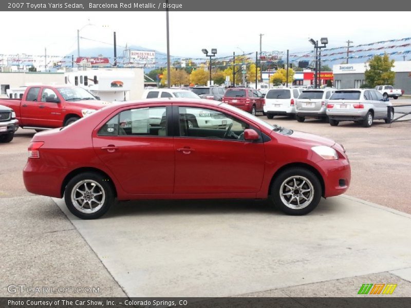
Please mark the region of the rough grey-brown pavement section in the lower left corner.
POLYGON ((0 297, 125 296, 50 198, 0 199, 0 217, 0 297), (9 285, 33 289, 21 293, 17 287, 16 293, 9 293, 9 285), (38 293, 35 287, 46 287, 48 293, 38 293), (75 292, 77 287, 98 287, 99 292, 75 292))

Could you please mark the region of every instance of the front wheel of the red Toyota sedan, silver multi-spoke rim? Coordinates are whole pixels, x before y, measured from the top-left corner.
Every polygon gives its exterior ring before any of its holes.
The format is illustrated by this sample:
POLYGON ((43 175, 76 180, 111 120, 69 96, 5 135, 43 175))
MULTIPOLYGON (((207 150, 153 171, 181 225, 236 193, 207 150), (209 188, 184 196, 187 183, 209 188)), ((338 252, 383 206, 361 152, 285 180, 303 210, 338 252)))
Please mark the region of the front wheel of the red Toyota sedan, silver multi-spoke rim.
POLYGON ((321 196, 320 180, 313 172, 301 167, 292 167, 282 171, 271 185, 271 201, 276 208, 288 215, 310 213, 319 204, 321 196), (300 185, 302 187, 298 187, 300 185), (295 187, 295 189, 290 189, 290 187, 295 187), (295 195, 296 193, 298 195, 295 195))

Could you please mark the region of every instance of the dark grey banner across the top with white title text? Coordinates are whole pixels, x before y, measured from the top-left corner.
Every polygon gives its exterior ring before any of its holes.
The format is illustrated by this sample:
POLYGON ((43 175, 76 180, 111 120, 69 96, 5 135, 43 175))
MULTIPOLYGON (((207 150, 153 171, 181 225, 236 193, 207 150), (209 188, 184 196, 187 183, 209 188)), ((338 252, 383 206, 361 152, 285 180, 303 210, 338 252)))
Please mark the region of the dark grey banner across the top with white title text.
MULTIPOLYGON (((307 18, 320 17, 309 12, 314 11, 409 11, 411 2, 391 0, 6 0, 0 2, 1 11, 306 11, 307 18)), ((395 17, 389 15, 388 17, 395 17)), ((387 17, 387 18, 388 18, 387 17)), ((275 15, 273 15, 275 18, 275 15)), ((365 15, 364 18, 373 18, 365 15)), ((258 21, 256 21, 258 22, 258 21)), ((393 22, 393 21, 386 21, 393 22)))

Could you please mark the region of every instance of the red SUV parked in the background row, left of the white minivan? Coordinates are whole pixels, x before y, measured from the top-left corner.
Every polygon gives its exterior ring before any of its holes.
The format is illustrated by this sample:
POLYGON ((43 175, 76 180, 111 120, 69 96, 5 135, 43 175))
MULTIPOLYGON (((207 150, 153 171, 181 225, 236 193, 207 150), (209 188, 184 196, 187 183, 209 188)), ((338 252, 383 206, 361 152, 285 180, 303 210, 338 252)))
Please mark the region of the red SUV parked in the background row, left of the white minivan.
POLYGON ((263 111, 264 97, 255 89, 230 88, 224 94, 222 102, 255 115, 255 112, 263 111))

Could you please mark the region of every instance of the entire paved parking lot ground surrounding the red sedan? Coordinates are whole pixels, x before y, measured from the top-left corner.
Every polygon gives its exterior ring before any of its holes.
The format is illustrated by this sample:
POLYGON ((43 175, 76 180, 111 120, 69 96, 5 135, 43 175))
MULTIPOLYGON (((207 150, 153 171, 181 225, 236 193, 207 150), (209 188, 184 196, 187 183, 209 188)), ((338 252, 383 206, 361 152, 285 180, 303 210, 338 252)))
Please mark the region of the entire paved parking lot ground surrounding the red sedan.
POLYGON ((409 296, 411 122, 267 121, 344 144, 346 196, 298 218, 264 201, 162 201, 124 202, 82 221, 61 200, 24 189, 34 132, 19 129, 0 145, 0 296, 46 296, 11 294, 10 284, 99 286, 92 296, 355 296, 378 282, 409 296))

